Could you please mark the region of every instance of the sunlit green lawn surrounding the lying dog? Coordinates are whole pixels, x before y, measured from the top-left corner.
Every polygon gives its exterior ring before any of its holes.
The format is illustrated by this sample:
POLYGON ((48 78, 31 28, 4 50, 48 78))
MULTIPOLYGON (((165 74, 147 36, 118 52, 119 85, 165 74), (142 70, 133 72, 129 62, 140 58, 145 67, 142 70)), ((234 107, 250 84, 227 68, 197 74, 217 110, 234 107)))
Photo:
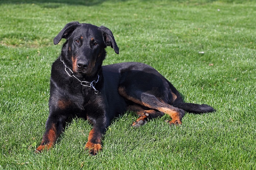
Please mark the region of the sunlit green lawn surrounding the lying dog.
POLYGON ((239 0, 0 1, 0 169, 256 169, 256 3, 239 0), (219 10, 218 10, 219 9, 219 10), (155 67, 187 102, 217 112, 164 116, 140 128, 127 112, 111 123, 97 156, 84 152, 92 126, 68 123, 35 154, 48 116, 53 38, 70 21, 107 26, 120 54, 104 64, 155 67), (199 54, 204 51, 204 54, 199 54))

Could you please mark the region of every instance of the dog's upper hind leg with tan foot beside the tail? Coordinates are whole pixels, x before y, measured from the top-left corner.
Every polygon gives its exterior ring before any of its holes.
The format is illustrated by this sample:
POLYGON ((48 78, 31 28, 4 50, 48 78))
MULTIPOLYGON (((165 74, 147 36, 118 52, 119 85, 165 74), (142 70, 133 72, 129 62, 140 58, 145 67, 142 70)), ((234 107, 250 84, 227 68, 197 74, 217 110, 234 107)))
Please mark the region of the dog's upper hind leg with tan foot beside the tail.
POLYGON ((134 103, 140 104, 142 106, 158 110, 159 112, 163 112, 169 116, 171 116, 172 121, 166 121, 170 124, 179 125, 181 123, 181 119, 185 114, 183 109, 179 109, 177 107, 173 107, 163 100, 156 98, 156 96, 152 94, 148 94, 146 92, 142 93, 140 91, 129 92, 126 91, 124 87, 119 87, 119 94, 122 95, 127 100, 131 100, 134 103))

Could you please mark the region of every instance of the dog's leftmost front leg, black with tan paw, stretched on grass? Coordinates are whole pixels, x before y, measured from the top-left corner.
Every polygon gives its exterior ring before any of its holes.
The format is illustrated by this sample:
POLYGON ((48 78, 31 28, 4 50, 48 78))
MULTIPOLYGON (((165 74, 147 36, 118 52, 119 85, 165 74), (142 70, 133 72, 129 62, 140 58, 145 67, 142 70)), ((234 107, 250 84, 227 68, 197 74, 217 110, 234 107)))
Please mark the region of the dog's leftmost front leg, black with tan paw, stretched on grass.
POLYGON ((66 119, 64 117, 49 115, 45 125, 46 130, 43 140, 35 152, 42 152, 42 150, 48 150, 53 146, 60 136, 60 133, 63 131, 63 124, 65 120, 66 119))

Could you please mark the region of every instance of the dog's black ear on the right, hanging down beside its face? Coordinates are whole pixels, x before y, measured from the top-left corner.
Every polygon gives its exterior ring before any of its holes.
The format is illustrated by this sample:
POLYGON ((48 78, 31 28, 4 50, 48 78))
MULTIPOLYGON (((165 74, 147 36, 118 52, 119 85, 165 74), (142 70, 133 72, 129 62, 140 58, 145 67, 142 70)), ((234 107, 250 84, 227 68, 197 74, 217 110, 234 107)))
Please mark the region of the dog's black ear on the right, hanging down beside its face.
POLYGON ((116 54, 119 54, 119 48, 117 47, 115 38, 113 36, 113 33, 105 26, 100 26, 100 30, 102 32, 102 35, 104 37, 104 41, 107 46, 110 46, 111 48, 114 48, 116 54))

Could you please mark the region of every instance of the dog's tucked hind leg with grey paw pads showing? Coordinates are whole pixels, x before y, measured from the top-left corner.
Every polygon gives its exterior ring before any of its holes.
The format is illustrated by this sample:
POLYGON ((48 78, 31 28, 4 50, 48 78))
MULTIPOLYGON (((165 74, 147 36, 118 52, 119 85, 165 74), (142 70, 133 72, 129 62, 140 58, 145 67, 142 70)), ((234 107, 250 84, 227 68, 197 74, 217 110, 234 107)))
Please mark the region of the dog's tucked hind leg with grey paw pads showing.
POLYGON ((145 110, 138 105, 130 105, 127 107, 127 110, 134 111, 139 116, 138 119, 132 123, 133 127, 140 127, 147 123, 147 119, 162 117, 163 112, 156 112, 155 110, 145 110))

